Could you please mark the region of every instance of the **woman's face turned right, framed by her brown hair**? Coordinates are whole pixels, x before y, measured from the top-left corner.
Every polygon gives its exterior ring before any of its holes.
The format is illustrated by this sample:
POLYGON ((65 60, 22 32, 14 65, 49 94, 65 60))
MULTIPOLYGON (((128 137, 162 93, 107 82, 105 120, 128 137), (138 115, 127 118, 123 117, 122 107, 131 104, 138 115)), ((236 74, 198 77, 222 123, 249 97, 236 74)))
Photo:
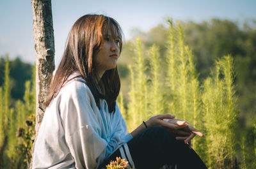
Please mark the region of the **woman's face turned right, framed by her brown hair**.
POLYGON ((118 36, 112 34, 109 29, 108 34, 103 34, 103 37, 103 46, 94 56, 96 71, 100 78, 105 71, 116 68, 117 59, 120 54, 120 40, 118 36))

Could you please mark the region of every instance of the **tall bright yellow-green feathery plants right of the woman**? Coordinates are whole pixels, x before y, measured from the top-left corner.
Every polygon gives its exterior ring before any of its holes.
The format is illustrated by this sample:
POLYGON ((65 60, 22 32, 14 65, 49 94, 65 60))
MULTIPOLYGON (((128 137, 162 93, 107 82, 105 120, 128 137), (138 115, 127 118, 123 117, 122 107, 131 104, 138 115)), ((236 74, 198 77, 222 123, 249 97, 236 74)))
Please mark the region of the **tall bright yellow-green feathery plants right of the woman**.
POLYGON ((141 58, 145 52, 137 40, 137 60, 130 66, 131 92, 127 108, 131 118, 125 117, 129 125, 134 125, 129 129, 151 115, 172 112, 204 132, 205 138, 195 138, 193 145, 209 168, 234 168, 234 126, 238 113, 234 60, 230 55, 218 59, 211 77, 200 84, 193 54, 184 45, 180 24, 175 27, 170 20, 169 24, 165 59, 159 58, 156 45, 149 49, 149 55, 141 58), (166 67, 160 68, 164 62, 166 67), (160 78, 164 76, 167 78, 160 78))

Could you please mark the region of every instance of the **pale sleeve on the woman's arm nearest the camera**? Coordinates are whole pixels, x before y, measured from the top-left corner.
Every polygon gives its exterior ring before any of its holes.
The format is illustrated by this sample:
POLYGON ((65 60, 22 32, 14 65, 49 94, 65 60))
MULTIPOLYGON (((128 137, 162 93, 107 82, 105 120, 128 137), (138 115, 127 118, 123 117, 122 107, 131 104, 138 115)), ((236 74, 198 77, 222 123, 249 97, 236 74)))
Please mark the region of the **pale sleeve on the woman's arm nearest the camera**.
POLYGON ((76 168, 97 168, 104 160, 108 142, 100 137, 99 109, 90 89, 74 82, 63 91, 60 104, 65 139, 76 162, 76 168))

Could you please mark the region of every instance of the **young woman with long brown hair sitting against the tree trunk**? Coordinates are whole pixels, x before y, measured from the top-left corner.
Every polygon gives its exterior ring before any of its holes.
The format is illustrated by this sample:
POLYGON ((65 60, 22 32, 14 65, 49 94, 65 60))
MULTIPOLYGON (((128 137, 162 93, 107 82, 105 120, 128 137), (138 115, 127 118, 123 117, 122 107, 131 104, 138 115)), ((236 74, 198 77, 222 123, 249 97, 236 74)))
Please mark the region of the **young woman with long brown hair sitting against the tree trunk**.
POLYGON ((33 156, 33 168, 105 168, 122 157, 131 168, 206 168, 189 143, 200 131, 174 115, 141 122, 131 133, 116 98, 122 30, 111 17, 84 15, 68 34, 33 156))

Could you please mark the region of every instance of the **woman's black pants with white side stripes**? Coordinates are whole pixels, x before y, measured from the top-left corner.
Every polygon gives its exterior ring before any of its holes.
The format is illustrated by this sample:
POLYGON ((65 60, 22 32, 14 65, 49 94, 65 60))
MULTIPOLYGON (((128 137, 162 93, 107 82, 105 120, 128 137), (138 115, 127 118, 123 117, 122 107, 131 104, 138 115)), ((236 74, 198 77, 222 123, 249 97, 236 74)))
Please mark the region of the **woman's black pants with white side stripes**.
MULTIPOLYGON (((159 169, 163 165, 183 168, 207 168, 193 149, 184 142, 175 140, 161 127, 150 127, 127 143, 136 169, 159 169)), ((100 168, 106 168, 110 161, 121 157, 120 149, 115 151, 100 168)))

